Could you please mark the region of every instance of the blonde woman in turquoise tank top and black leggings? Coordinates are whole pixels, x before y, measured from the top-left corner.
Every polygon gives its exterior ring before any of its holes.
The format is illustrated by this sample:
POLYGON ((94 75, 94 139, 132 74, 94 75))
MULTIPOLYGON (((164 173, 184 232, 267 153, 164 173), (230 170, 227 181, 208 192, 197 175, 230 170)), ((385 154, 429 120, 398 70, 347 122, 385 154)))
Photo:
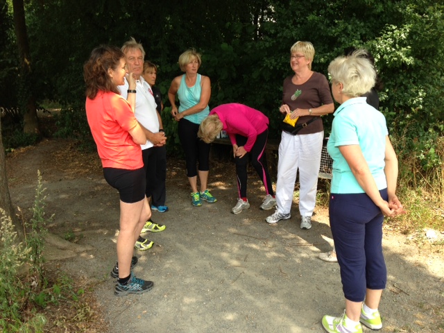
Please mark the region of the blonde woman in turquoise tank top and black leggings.
POLYGON ((174 78, 168 91, 171 115, 179 121, 179 139, 185 151, 187 177, 191 185, 191 203, 194 206, 201 206, 201 200, 216 202, 216 198, 207 189, 210 144, 205 144, 197 136, 200 123, 210 113, 208 102, 211 96, 210 78, 197 72, 200 64, 200 54, 196 50, 189 49, 182 53, 179 66, 185 74, 174 78), (180 102, 179 108, 176 106, 176 95, 180 102), (197 189, 197 176, 200 191, 197 189))

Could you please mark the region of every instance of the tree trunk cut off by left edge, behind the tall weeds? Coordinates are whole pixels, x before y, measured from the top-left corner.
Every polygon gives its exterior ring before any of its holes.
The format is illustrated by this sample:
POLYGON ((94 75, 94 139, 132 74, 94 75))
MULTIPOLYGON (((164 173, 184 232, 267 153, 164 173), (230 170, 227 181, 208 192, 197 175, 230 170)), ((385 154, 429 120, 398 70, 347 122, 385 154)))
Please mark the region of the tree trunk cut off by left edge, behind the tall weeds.
POLYGON ((12 207, 11 197, 8 189, 8 176, 6 175, 6 159, 5 149, 3 148, 3 139, 1 138, 1 117, 0 117, 0 208, 6 212, 6 216, 10 216, 12 223, 15 225, 18 240, 24 239, 24 231, 19 219, 15 216, 14 207, 12 207))

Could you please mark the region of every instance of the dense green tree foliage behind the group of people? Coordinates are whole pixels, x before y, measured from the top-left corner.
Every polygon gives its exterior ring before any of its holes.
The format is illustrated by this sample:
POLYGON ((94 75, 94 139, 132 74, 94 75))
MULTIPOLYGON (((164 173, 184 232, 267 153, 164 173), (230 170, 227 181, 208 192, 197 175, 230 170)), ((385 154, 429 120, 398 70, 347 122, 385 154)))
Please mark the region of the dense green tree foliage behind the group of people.
MULTIPOLYGON (((18 61, 12 0, 0 0, 0 106, 17 105, 18 61)), ((271 119, 279 137, 282 80, 292 74, 289 49, 297 40, 316 48, 315 71, 350 46, 373 53, 384 83, 381 110, 412 184, 442 169, 444 113, 443 3, 432 0, 28 0, 28 39, 38 101, 62 105, 58 135, 90 140, 84 111, 83 63, 99 44, 120 46, 133 36, 159 66, 168 149, 178 150, 167 90, 180 74, 178 56, 203 55, 200 73, 212 80, 210 108, 245 103, 271 119), (420 171, 419 173, 413 170, 420 171), (432 172, 433 173, 433 172, 432 172)), ((326 136, 332 116, 325 117, 326 136)))

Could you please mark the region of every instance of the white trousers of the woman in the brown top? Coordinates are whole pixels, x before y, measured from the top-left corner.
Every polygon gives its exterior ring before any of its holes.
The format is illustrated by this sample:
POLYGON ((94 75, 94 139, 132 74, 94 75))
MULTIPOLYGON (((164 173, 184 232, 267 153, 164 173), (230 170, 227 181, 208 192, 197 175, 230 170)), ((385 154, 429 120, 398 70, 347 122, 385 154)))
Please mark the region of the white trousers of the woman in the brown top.
POLYGON ((299 169, 299 212, 301 216, 313 214, 323 139, 324 132, 305 135, 282 132, 276 182, 276 203, 280 213, 289 214, 291 210, 299 169))

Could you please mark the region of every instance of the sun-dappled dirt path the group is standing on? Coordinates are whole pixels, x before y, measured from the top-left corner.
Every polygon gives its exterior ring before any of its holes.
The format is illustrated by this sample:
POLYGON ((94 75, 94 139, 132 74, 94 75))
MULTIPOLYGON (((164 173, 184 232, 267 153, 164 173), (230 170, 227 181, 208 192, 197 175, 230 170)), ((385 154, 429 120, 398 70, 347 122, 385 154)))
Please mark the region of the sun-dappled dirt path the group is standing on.
MULTIPOLYGON (((25 215, 41 171, 45 211, 54 214, 49 232, 77 239, 74 246, 49 239, 45 257, 92 287, 101 330, 84 332, 323 332, 322 316, 343 312, 339 266, 318 259, 332 242, 326 208, 316 208, 311 230, 300 230, 296 204, 290 220, 268 225, 264 219, 273 211, 259 210, 264 191, 251 173, 250 210, 231 214, 234 164, 213 163, 210 189, 218 202, 192 207, 183 162, 169 160, 170 210, 153 212, 167 229, 148 234, 153 248, 135 251, 135 274, 155 286, 121 298, 110 278, 119 196, 103 180, 96 153, 46 140, 9 154, 7 167, 12 201, 25 215)), ((379 308, 381 332, 444 332, 442 242, 426 246, 410 238, 384 225, 388 285, 379 308)))

